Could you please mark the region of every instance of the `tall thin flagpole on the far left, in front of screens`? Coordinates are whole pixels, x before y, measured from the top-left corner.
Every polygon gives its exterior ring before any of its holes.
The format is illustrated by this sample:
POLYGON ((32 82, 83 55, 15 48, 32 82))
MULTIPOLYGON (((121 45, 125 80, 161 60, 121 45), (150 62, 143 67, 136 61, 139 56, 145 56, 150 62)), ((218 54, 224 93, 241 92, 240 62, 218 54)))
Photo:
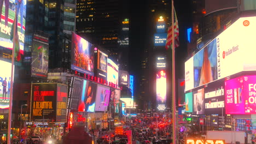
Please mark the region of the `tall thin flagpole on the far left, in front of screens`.
POLYGON ((14 17, 14 31, 13 31, 13 52, 11 56, 11 80, 10 80, 10 98, 9 98, 9 113, 8 113, 8 139, 7 143, 10 144, 10 135, 11 135, 11 110, 13 108, 13 71, 14 71, 14 51, 15 51, 15 39, 16 39, 16 23, 17 23, 17 7, 15 8, 15 17, 14 17))

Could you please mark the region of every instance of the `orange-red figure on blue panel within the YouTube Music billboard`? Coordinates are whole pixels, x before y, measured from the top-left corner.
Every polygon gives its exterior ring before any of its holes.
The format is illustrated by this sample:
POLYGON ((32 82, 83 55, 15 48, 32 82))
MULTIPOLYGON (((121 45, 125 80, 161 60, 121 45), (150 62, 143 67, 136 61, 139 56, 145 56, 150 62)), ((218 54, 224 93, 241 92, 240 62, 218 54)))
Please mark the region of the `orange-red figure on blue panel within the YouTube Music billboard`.
POLYGON ((194 87, 217 80, 216 39, 194 56, 194 87))

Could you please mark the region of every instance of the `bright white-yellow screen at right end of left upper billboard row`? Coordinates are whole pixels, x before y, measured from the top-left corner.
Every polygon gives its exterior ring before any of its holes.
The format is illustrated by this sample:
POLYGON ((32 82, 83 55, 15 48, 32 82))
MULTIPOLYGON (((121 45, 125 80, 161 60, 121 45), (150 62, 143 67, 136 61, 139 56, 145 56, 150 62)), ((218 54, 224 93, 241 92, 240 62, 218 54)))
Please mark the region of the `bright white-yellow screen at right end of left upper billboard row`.
POLYGON ((108 58, 108 82, 112 82, 115 87, 118 87, 118 65, 108 58))

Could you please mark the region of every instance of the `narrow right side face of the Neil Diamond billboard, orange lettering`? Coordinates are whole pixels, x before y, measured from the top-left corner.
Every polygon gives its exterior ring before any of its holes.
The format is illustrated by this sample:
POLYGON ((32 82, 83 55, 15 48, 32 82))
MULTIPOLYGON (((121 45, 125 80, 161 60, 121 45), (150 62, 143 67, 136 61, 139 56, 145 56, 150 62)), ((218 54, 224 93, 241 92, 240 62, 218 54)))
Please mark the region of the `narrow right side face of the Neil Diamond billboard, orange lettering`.
POLYGON ((67 121, 67 85, 57 84, 56 122, 67 121))

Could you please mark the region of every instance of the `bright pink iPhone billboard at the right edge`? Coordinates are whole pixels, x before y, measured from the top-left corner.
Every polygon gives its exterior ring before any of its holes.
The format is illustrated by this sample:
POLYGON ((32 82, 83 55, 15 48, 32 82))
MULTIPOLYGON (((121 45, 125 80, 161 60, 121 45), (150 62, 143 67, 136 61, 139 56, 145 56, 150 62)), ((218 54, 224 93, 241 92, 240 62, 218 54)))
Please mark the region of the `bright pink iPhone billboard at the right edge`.
POLYGON ((256 114, 256 75, 225 81, 226 114, 256 114))

